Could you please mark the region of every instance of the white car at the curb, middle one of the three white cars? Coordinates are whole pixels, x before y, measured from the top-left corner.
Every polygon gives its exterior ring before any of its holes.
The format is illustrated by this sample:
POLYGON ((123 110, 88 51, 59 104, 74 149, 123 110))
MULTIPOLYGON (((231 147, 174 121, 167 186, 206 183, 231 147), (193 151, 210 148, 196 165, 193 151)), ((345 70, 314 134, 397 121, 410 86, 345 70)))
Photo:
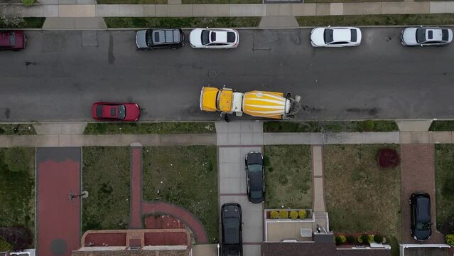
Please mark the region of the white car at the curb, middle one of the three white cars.
POLYGON ((328 26, 310 31, 310 44, 313 47, 359 46, 360 43, 360 28, 328 26))

